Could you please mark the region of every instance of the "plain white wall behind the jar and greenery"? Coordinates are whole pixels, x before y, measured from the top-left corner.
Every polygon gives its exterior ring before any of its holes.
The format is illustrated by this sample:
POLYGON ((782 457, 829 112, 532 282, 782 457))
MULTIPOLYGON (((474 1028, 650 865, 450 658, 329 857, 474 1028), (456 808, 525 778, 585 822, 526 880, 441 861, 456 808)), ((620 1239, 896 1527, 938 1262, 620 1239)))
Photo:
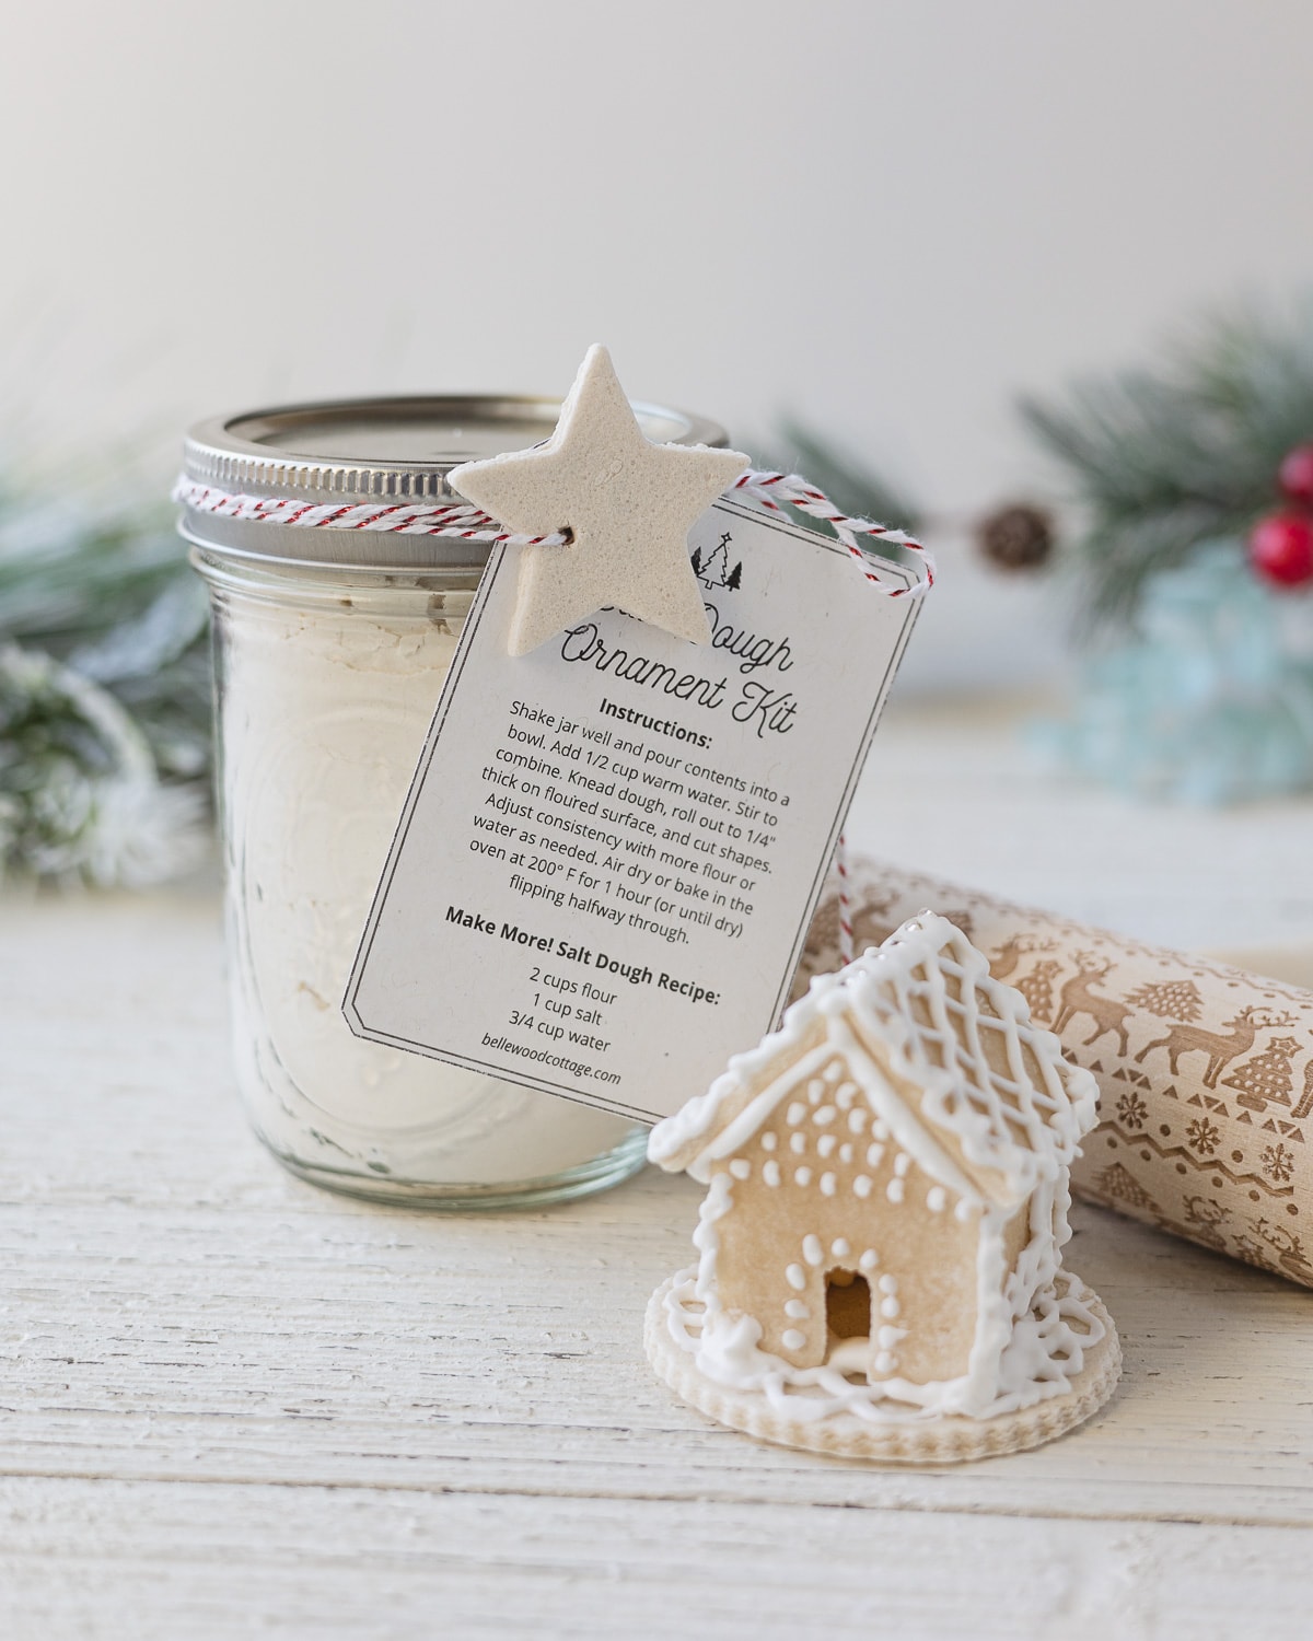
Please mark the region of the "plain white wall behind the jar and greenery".
MULTIPOLYGON (((561 391, 604 340, 635 395, 748 448, 794 412, 968 510, 1041 471, 1016 391, 1308 279, 1311 69, 1308 0, 41 0, 0 51, 5 397, 85 445, 561 391)), ((965 566, 913 670, 1039 666, 1036 610, 965 566)))

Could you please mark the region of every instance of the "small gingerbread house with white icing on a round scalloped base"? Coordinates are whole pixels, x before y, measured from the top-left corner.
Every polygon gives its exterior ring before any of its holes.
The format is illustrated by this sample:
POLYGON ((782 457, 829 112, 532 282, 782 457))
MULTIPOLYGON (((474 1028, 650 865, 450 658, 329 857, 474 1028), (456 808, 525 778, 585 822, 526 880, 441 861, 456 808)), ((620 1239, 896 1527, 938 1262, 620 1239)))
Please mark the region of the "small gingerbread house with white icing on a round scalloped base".
POLYGON ((812 981, 650 1157, 707 1185, 696 1267, 652 1300, 653 1367, 739 1429, 945 1462, 1036 1446, 1116 1385, 1062 1268, 1095 1080, 947 919, 812 981))

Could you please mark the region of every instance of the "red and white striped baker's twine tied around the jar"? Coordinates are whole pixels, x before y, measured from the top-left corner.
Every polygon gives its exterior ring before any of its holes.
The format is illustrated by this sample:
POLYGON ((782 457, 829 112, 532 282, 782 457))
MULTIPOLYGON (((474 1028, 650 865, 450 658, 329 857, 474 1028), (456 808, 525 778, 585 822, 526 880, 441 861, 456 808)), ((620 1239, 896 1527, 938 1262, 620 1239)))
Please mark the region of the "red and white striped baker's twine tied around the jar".
MULTIPOLYGON (((852 555, 867 583, 878 592, 891 599, 922 597, 934 586, 934 558, 906 530, 890 530, 870 519, 850 519, 840 512, 834 502, 814 484, 796 473, 762 473, 748 468, 725 494, 748 496, 770 512, 783 512, 785 504, 796 507, 812 519, 822 519, 844 546, 852 555), (858 537, 870 537, 890 546, 906 548, 914 555, 911 584, 886 581, 872 566, 870 558, 862 551, 858 537)), ((499 542, 512 546, 565 546, 570 537, 563 530, 548 535, 514 535, 502 530, 496 519, 471 507, 468 502, 335 502, 315 505, 305 501, 279 496, 241 496, 217 491, 208 484, 197 484, 182 478, 174 486, 172 499, 192 512, 218 514, 223 519, 246 519, 253 523, 277 523, 297 530, 368 530, 386 535, 441 535, 458 542, 499 542)), ((844 837, 834 855, 839 875, 839 955, 844 963, 850 963, 852 948, 852 907, 849 904, 849 863, 844 837)))

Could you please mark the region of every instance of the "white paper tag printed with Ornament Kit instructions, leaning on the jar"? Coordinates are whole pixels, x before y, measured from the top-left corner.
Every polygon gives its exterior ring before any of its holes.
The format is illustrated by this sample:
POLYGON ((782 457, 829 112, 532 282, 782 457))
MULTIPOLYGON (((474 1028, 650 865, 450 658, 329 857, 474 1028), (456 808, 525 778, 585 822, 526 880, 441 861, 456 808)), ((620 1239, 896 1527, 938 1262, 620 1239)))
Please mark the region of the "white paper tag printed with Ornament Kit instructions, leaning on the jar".
POLYGON ((656 1119, 775 1026, 919 601, 729 499, 689 548, 709 647, 602 610, 519 658, 522 548, 494 550, 351 971, 355 1032, 656 1119))

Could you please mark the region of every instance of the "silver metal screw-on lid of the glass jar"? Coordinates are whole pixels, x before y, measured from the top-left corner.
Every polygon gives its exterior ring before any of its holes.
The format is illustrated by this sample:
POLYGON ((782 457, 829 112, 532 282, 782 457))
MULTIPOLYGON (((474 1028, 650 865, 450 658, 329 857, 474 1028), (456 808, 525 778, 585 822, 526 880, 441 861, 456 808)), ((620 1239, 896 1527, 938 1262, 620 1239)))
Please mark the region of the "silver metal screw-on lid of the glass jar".
MULTIPOLYGON (((230 496, 295 497, 307 505, 460 499, 446 482, 463 461, 528 450, 548 438, 560 399, 450 394, 341 399, 246 410, 199 422, 184 445, 184 476, 230 496)), ((725 430, 665 405, 635 404, 656 445, 729 443, 725 430)), ((305 530, 228 519, 184 504, 182 535, 243 558, 358 569, 478 566, 487 545, 438 535, 305 530)))

